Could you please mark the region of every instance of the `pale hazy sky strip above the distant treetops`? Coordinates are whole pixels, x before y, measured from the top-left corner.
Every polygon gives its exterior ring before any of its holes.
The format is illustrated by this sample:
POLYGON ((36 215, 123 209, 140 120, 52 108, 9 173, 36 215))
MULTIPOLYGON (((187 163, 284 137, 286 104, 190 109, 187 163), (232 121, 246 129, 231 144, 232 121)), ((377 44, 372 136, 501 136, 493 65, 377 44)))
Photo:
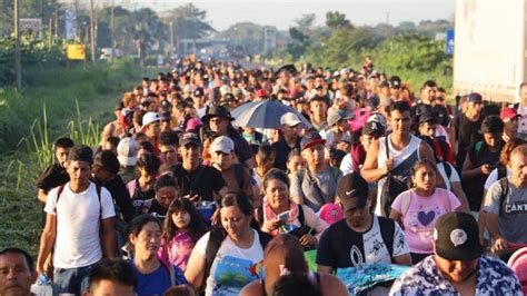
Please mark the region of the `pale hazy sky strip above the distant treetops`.
POLYGON ((387 21, 396 26, 401 21, 448 19, 454 13, 456 0, 116 0, 116 4, 122 3, 130 9, 148 6, 158 12, 189 2, 207 11, 207 20, 216 30, 225 30, 242 21, 287 30, 296 19, 307 13, 316 13, 316 23, 321 26, 329 10, 345 13, 351 23, 358 26, 387 21))

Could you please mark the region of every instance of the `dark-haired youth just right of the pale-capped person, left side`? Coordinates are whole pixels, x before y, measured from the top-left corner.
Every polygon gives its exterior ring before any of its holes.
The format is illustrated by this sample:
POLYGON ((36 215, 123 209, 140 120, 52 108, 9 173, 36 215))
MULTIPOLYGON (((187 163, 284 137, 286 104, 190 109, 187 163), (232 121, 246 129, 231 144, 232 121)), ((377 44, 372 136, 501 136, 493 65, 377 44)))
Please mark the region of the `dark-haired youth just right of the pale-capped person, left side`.
POLYGON ((152 154, 145 154, 139 157, 137 161, 139 178, 127 184, 131 199, 150 199, 155 197, 153 184, 156 182, 160 166, 161 161, 152 154))

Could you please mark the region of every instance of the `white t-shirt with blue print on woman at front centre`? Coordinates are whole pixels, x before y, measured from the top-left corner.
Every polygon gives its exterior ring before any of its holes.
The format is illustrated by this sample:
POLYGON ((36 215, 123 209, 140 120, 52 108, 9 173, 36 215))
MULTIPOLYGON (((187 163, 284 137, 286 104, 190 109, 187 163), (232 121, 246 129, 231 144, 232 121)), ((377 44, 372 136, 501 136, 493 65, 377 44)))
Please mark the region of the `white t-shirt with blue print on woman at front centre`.
MULTIPOLYGON (((262 278, 264 248, 258 233, 252 231, 255 241, 247 249, 236 246, 229 236, 223 239, 210 267, 205 295, 239 295, 245 285, 262 278)), ((210 233, 207 233, 196 243, 195 249, 203 258, 209 237, 210 233)))

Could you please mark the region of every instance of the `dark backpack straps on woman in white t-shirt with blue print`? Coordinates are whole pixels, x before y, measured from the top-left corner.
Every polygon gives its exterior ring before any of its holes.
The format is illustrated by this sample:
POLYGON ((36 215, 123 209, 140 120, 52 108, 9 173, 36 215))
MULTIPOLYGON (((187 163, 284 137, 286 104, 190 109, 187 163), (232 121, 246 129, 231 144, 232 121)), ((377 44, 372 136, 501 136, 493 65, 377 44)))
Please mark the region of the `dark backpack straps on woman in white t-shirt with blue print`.
MULTIPOLYGON (((256 229, 258 233, 258 237, 260 240, 260 245, 262 249, 266 249, 267 244, 271 241, 272 236, 266 233, 262 233, 256 229)), ((209 241, 207 241, 206 255, 205 255, 205 275, 203 282, 201 283, 201 290, 205 292, 205 287, 207 284, 207 278, 210 275, 210 268, 212 267, 212 263, 216 259, 216 255, 218 254, 219 248, 221 247, 221 243, 223 243, 225 238, 227 237, 227 233, 221 227, 216 227, 210 230, 209 241)))

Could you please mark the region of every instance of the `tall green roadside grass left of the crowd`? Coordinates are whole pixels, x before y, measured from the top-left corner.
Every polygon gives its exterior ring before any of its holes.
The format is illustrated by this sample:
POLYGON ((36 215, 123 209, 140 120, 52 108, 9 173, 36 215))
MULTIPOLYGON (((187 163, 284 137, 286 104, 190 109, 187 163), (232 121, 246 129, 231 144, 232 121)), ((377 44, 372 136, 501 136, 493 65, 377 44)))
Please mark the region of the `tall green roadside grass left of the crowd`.
POLYGON ((122 92, 158 69, 131 62, 36 69, 22 91, 0 89, 0 249, 38 254, 41 206, 34 180, 53 161, 52 142, 70 136, 95 146, 122 92))

